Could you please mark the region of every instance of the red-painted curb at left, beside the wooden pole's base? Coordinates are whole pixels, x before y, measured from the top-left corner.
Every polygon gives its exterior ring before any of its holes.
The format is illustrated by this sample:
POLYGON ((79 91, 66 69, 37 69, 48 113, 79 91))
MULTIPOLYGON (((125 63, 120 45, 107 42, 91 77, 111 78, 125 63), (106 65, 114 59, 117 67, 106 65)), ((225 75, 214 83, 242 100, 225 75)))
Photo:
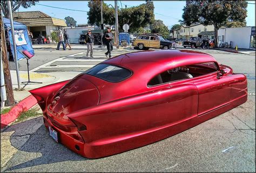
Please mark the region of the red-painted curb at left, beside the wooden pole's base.
POLYGON ((9 123, 14 122, 19 114, 30 109, 36 105, 37 100, 33 95, 28 96, 22 101, 18 102, 17 105, 11 108, 10 112, 1 115, 1 129, 7 126, 9 123))

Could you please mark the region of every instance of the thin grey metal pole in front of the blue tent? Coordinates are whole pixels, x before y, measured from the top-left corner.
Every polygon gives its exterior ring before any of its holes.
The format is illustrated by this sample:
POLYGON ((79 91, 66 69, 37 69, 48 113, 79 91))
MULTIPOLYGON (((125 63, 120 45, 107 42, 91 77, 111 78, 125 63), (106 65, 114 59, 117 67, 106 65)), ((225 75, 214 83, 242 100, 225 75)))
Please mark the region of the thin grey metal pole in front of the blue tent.
POLYGON ((17 74, 17 81, 18 81, 18 91, 21 91, 21 82, 20 82, 20 79, 19 79, 19 66, 18 66, 15 34, 14 34, 14 20, 12 18, 11 1, 8 1, 8 9, 9 9, 9 17, 10 17, 10 23, 11 23, 12 43, 14 44, 14 61, 15 61, 15 65, 16 65, 16 74, 17 74))

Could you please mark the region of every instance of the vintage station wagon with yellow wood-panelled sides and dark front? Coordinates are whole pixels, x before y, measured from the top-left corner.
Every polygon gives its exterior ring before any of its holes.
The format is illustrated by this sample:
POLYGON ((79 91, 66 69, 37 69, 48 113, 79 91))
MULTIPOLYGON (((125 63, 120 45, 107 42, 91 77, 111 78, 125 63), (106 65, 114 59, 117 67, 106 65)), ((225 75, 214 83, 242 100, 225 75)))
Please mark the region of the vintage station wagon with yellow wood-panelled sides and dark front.
POLYGON ((174 41, 165 40, 159 34, 140 34, 133 41, 134 47, 140 50, 148 50, 150 48, 156 49, 176 49, 176 43, 174 41))

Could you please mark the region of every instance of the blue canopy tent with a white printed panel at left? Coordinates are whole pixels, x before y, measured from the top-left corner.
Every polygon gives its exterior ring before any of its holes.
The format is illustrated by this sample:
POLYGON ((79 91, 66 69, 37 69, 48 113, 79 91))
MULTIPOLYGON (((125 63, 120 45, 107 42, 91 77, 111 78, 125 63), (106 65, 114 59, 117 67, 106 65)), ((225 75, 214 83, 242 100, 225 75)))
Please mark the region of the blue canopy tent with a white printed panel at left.
MULTIPOLYGON (((8 31, 8 37, 11 44, 11 52, 14 54, 14 44, 12 41, 12 34, 11 34, 11 23, 10 20, 7 18, 4 19, 4 29, 8 31)), ((31 40, 29 38, 28 30, 26 25, 22 23, 18 23, 14 21, 14 31, 15 31, 15 42, 16 42, 16 48, 17 48, 17 59, 25 58, 24 55, 19 52, 21 50, 27 50, 32 55, 34 55, 34 51, 32 48, 31 40)))

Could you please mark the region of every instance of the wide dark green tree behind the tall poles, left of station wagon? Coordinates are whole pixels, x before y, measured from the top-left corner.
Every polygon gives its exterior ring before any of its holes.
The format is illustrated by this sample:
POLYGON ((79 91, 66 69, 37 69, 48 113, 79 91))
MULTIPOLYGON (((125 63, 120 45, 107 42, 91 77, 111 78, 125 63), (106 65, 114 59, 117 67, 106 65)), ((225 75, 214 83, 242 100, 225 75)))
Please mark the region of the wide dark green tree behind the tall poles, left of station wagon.
MULTIPOLYGON (((89 2, 90 8, 88 15, 88 23, 100 25, 100 2, 89 2)), ((154 5, 153 2, 146 2, 131 8, 118 9, 119 30, 123 30, 122 26, 128 24, 130 32, 136 32, 140 27, 145 27, 153 23, 154 5)), ((103 23, 113 25, 115 23, 114 9, 103 3, 103 23)))

